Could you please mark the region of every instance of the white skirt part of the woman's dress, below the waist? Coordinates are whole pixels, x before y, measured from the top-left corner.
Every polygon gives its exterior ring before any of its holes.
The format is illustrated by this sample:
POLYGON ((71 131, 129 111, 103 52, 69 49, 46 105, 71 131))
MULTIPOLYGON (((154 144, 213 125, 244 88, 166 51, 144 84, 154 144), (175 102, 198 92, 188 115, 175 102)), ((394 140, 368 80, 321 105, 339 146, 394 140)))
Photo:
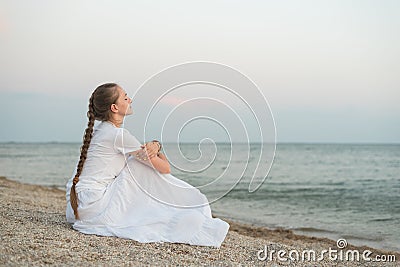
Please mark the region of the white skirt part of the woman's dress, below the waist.
POLYGON ((207 198, 197 188, 133 157, 108 183, 79 184, 79 219, 69 202, 72 179, 66 215, 73 228, 85 234, 220 247, 229 229, 225 221, 212 218, 207 198))

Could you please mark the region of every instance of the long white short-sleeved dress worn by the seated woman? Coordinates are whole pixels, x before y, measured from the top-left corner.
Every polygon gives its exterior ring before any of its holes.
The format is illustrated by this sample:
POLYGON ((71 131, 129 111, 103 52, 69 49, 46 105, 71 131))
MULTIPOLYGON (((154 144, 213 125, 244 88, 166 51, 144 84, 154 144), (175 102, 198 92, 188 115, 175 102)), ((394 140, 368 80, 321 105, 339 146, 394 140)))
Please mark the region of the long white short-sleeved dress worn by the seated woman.
POLYGON ((73 177, 66 186, 67 221, 85 234, 220 247, 229 224, 212 218, 197 188, 127 156, 140 145, 126 129, 95 127, 76 184, 78 220, 70 204, 73 177))

